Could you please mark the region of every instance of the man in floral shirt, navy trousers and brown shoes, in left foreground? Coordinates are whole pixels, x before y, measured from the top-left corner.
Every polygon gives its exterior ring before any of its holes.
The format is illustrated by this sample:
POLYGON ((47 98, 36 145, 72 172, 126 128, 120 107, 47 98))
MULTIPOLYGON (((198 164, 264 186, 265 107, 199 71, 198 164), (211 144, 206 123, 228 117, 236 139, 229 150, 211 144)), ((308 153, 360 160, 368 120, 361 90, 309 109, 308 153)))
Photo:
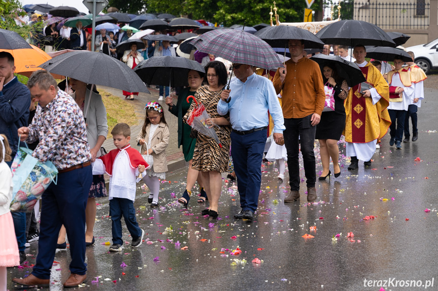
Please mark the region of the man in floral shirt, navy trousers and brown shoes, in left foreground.
POLYGON ((40 161, 53 162, 58 169, 58 181, 50 184, 42 196, 37 263, 29 276, 13 281, 25 286, 50 283, 50 269, 63 224, 72 257, 71 275, 64 287, 78 286, 87 278, 85 206, 92 180, 84 116, 75 100, 58 89, 47 71, 34 72, 27 87, 38 108, 32 123, 28 128, 19 128, 18 135, 22 141, 40 141, 32 155, 40 161))

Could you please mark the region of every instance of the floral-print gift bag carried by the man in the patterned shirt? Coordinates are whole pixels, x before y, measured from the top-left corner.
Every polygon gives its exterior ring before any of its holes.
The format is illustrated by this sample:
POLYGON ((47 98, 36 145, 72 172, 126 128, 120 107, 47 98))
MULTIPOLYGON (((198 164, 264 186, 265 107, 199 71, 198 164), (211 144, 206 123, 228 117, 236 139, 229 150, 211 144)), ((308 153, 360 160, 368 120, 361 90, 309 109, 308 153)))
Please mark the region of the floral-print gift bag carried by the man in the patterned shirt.
POLYGON ((40 162, 32 156, 28 148, 18 148, 12 162, 12 182, 14 184, 12 212, 31 212, 50 183, 55 182, 58 170, 52 162, 40 162))

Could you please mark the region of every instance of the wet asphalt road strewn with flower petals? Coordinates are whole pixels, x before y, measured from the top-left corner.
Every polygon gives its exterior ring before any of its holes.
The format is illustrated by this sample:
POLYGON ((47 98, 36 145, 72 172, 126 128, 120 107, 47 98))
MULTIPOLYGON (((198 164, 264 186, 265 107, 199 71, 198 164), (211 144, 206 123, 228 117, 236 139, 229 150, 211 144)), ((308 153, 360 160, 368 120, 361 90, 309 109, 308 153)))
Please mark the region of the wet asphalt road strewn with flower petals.
MULTIPOLYGON (((124 227, 128 242, 124 250, 109 253, 109 245, 105 245, 111 241, 108 201, 97 199, 96 243, 87 248, 88 280, 80 289, 377 291, 379 283, 389 279, 385 290, 426 289, 432 280, 433 286, 427 290, 437 290, 436 93, 438 90, 425 89, 418 141, 396 150, 389 146, 387 134, 371 167, 365 169, 360 162, 358 171, 347 171, 349 159, 340 143, 342 175, 317 182, 318 203, 306 203, 303 182, 299 203, 285 204, 288 179, 279 182, 273 163, 263 163, 254 222, 232 218, 240 210, 239 194, 235 184, 226 181, 219 219, 205 218, 200 215, 205 203, 192 198, 186 209, 175 202, 185 189, 183 169, 167 174, 170 182, 161 184, 159 209, 150 209, 148 190, 139 187, 134 205, 146 231, 143 245, 132 249, 124 227), (415 161, 417 157, 420 161, 415 161), (375 218, 366 220, 366 216, 375 218), (311 226, 316 226, 316 231, 311 231, 311 226), (354 237, 347 237, 350 232, 354 237), (302 236, 306 234, 314 237, 305 239, 302 236), (336 234, 340 237, 333 241, 336 234), (181 250, 185 246, 187 249, 181 250), (238 247, 242 253, 232 255, 238 247), (255 258, 262 262, 252 263, 255 258), (395 286, 397 280, 409 280, 411 286, 406 282, 395 286), (419 286, 413 287, 411 280, 419 286)), ((318 162, 317 174, 320 170, 318 162)), ((26 250, 29 264, 35 264, 37 246, 31 243, 26 250)), ((57 252, 55 261, 50 290, 61 290, 62 281, 69 276, 69 251, 57 252)), ((31 269, 8 271, 10 280, 31 269)), ((12 282, 8 288, 18 289, 12 282)))

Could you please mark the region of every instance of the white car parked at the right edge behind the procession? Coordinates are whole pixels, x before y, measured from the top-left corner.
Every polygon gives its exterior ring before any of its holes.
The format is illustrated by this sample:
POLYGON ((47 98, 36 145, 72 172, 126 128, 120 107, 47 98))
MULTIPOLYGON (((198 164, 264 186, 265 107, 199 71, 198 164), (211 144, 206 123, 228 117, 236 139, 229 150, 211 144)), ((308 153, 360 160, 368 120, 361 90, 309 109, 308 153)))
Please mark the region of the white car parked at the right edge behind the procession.
POLYGON ((438 68, 438 39, 428 44, 406 48, 415 55, 415 63, 427 74, 433 68, 438 68))

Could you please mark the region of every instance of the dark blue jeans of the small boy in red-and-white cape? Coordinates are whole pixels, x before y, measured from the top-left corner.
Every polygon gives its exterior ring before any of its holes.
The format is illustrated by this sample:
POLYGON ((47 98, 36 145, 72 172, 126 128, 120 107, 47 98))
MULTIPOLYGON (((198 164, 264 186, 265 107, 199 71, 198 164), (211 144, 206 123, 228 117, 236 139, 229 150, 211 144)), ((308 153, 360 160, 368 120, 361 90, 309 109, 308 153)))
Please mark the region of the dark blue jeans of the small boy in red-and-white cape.
POLYGON ((126 227, 132 239, 137 239, 142 236, 142 230, 136 219, 134 202, 126 198, 114 197, 110 200, 111 231, 113 234, 113 243, 121 245, 123 245, 122 215, 125 218, 126 227))

